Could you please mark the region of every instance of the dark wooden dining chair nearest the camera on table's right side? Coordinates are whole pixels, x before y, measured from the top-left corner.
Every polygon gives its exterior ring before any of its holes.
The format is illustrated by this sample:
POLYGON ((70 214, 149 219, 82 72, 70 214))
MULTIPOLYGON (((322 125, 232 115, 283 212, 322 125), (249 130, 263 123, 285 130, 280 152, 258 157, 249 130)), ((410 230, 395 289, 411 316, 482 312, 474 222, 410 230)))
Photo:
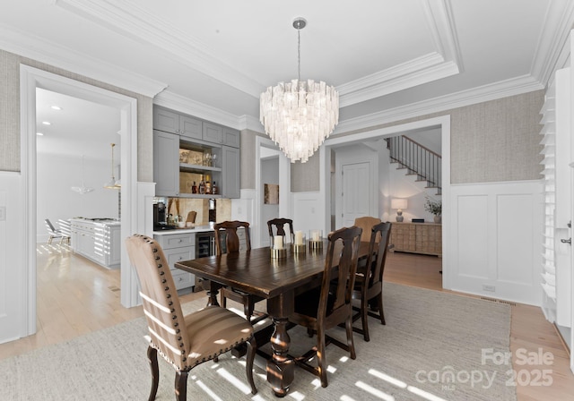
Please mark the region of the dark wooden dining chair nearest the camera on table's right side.
POLYGON ((357 260, 359 258, 359 245, 361 243, 361 227, 352 226, 341 228, 327 236, 325 269, 321 286, 309 290, 295 297, 295 311, 289 316, 291 323, 308 329, 310 333, 317 334, 317 346, 307 353, 295 358, 301 368, 317 375, 321 386, 327 387, 326 354, 328 344, 335 344, 356 358, 352 339, 352 288, 355 281, 357 260), (337 268, 337 269, 335 269, 337 268), (336 271, 336 276, 332 273, 336 271), (330 284, 336 278, 337 285, 331 288, 330 284), (338 339, 327 336, 326 330, 345 323, 347 342, 344 344, 338 339), (317 366, 309 361, 317 357, 317 366))

